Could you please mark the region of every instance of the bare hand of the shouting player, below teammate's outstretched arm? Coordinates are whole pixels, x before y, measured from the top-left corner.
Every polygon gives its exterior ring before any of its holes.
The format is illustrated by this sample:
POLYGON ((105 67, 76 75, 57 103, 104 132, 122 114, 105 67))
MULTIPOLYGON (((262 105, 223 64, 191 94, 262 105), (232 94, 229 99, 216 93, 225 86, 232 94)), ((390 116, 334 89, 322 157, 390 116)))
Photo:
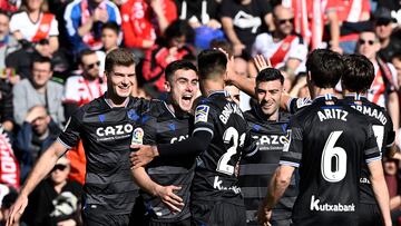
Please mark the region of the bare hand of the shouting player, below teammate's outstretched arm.
POLYGON ((173 213, 182 212, 184 207, 183 199, 174 194, 175 190, 182 189, 180 187, 169 185, 169 186, 158 186, 156 188, 156 195, 160 197, 162 202, 170 209, 173 213))

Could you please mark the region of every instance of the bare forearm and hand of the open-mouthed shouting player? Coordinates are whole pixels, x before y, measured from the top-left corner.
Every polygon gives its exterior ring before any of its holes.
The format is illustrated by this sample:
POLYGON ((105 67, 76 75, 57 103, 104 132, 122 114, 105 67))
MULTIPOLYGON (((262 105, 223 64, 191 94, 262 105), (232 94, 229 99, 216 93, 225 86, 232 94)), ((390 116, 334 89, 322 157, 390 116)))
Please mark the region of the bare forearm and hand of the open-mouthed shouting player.
POLYGON ((184 207, 183 199, 175 195, 175 190, 179 190, 180 187, 169 185, 162 186, 151 180, 144 167, 137 167, 133 169, 133 176, 137 185, 146 193, 160 197, 162 202, 172 210, 180 212, 184 207))

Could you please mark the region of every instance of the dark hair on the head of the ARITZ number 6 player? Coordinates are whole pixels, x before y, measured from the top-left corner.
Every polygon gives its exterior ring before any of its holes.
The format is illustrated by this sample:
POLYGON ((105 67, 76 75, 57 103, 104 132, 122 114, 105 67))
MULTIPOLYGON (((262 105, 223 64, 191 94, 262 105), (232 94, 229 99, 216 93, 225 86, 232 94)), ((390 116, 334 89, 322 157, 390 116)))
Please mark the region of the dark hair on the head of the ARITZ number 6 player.
POLYGON ((315 49, 307 57, 306 70, 316 87, 334 88, 344 72, 344 62, 338 52, 315 49))

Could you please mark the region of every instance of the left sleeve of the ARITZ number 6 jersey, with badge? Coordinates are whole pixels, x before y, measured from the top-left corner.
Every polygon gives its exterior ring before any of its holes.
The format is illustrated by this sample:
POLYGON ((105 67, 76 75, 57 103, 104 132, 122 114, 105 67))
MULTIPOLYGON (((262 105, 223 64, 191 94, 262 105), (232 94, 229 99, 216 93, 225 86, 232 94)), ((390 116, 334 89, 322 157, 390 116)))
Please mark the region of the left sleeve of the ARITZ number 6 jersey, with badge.
POLYGON ((290 120, 286 139, 287 143, 283 147, 280 165, 300 167, 303 150, 303 129, 296 117, 290 120))

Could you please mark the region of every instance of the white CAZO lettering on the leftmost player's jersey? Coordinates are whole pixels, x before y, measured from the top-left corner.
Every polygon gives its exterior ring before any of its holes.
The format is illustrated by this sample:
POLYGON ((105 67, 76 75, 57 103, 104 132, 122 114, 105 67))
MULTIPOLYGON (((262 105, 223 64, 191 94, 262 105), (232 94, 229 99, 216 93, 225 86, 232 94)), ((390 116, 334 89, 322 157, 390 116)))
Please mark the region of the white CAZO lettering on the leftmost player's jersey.
POLYGON ((134 126, 130 124, 99 127, 96 129, 98 141, 110 139, 123 139, 131 136, 134 126))

